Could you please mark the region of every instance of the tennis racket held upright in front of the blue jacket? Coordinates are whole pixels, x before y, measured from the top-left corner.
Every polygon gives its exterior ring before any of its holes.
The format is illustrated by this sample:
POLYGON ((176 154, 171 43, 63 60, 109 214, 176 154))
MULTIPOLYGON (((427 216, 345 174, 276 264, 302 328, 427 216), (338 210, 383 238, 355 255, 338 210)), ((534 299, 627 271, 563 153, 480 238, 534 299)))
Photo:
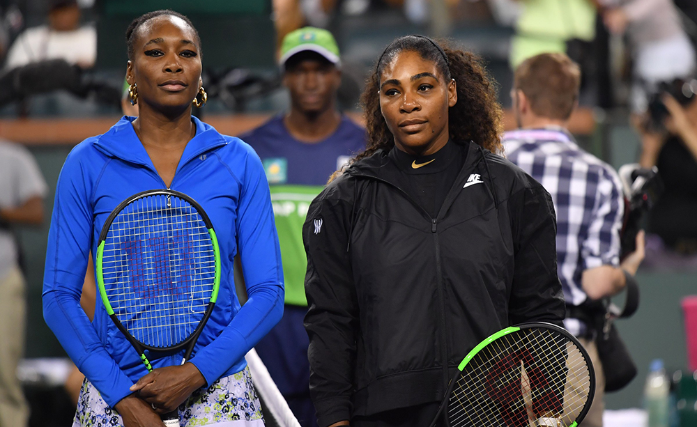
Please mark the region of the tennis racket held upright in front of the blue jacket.
MULTIPOLYGON (((146 351, 186 348, 184 364, 220 286, 220 249, 201 205, 169 189, 130 196, 107 217, 95 265, 105 309, 148 371, 146 351)), ((177 410, 162 421, 178 427, 177 410)))

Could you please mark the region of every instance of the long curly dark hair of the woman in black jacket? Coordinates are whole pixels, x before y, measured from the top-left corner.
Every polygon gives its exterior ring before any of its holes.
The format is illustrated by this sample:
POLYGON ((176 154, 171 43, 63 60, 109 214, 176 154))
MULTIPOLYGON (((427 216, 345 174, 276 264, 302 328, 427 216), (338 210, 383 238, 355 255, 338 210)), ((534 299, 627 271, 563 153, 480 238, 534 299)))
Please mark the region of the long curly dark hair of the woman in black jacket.
POLYGON ((501 106, 496 98, 496 82, 484 69, 482 59, 470 52, 450 46, 445 40, 431 40, 424 36, 404 36, 385 48, 372 75, 365 84, 360 103, 366 118, 367 147, 353 158, 356 162, 376 150, 390 150, 395 137, 388 129, 380 111, 380 76, 388 63, 403 51, 418 52, 436 63, 445 81, 455 79, 457 104, 448 111, 448 132, 453 141, 473 141, 492 153, 503 153, 501 106))

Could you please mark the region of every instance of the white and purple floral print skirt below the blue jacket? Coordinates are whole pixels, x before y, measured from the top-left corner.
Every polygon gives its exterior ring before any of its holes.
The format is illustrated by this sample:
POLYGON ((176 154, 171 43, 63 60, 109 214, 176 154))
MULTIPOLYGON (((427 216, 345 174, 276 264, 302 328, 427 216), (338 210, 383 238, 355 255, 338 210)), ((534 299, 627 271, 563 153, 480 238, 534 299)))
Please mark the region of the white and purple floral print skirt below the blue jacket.
MULTIPOLYGON (((252 385, 250 368, 220 378, 194 391, 179 405, 181 427, 262 427, 259 396, 252 385)), ((72 427, 122 427, 121 416, 109 407, 88 380, 82 383, 72 427)))

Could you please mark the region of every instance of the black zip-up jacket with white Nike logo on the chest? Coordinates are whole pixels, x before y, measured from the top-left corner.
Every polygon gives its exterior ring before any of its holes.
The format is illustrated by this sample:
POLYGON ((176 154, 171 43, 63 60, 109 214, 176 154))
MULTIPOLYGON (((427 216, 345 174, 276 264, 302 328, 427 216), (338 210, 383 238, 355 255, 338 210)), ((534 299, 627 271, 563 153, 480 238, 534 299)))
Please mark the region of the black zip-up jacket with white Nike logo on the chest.
POLYGON ((320 427, 440 401, 477 343, 526 321, 562 325, 549 193, 475 143, 436 218, 380 150, 310 205, 310 394, 320 427))

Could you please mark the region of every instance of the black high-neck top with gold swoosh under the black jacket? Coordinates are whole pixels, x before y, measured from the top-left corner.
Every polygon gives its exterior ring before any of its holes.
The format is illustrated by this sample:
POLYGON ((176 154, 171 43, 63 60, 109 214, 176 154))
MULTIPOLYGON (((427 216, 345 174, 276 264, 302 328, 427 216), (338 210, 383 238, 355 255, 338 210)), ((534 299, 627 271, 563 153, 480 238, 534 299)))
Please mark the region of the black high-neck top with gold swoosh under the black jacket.
POLYGON ((399 187, 435 218, 462 169, 467 148, 447 141, 434 154, 415 156, 395 146, 390 150, 389 157, 401 172, 399 187))

